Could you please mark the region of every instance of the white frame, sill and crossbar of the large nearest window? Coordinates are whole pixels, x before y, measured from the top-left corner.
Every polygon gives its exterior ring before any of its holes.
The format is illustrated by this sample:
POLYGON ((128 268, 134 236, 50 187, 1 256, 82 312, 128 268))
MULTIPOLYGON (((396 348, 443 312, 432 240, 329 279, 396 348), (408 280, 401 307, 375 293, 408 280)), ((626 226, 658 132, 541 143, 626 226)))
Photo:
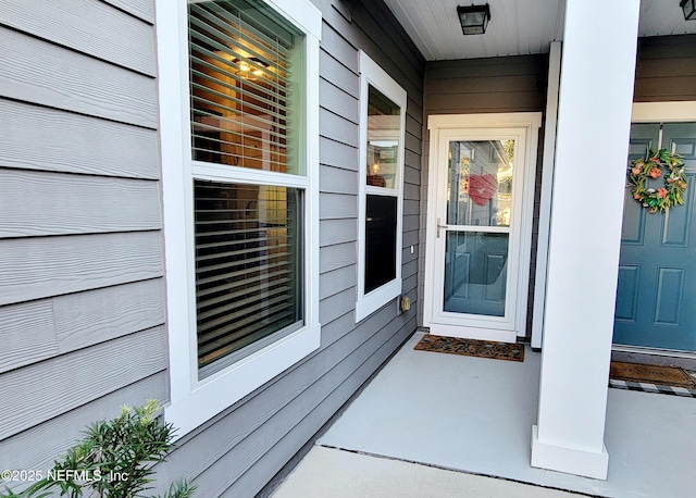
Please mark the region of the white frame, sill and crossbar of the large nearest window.
MULTIPOLYGON (((195 0, 194 0, 195 1, 195 0)), ((322 14, 309 0, 264 0, 304 34, 304 175, 235 172, 236 183, 304 190, 304 326, 203 379, 198 378, 194 262, 194 178, 229 182, 229 169, 191 160, 186 0, 156 0, 160 147, 169 333, 170 403, 181 437, 320 347, 319 42, 322 14), (277 180, 277 182, 276 182, 277 180)), ((244 169, 239 169, 244 170, 244 169)))

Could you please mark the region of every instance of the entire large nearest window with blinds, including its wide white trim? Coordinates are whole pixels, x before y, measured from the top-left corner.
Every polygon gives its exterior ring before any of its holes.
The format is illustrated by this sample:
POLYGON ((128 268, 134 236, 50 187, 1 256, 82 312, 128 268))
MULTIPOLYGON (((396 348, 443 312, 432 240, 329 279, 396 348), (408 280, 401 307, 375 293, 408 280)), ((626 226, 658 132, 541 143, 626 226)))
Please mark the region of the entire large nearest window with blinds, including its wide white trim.
POLYGON ((167 423, 189 433, 321 345, 311 0, 154 0, 167 423))

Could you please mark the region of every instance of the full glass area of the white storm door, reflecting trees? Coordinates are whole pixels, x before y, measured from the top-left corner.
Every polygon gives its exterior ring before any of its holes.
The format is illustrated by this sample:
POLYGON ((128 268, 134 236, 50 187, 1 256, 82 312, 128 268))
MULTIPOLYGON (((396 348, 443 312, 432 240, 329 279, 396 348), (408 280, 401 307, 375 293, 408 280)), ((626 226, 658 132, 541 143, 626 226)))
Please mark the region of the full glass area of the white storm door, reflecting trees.
POLYGON ((505 316, 514 140, 449 142, 443 310, 505 316))

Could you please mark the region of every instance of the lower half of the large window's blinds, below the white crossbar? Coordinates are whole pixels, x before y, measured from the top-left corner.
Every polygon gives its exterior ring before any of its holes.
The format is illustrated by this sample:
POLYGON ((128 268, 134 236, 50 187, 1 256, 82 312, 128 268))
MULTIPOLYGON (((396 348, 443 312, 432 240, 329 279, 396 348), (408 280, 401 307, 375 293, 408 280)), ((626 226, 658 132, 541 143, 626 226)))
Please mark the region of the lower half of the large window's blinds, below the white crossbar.
POLYGON ((301 192, 195 182, 198 363, 302 321, 301 192))

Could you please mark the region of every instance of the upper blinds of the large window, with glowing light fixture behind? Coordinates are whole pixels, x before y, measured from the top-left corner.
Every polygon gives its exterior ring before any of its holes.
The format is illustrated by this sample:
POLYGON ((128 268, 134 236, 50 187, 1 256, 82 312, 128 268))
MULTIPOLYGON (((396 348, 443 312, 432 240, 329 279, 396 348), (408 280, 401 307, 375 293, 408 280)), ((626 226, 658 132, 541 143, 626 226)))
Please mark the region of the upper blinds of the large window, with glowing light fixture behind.
POLYGON ((192 158, 256 170, 301 173, 301 36, 252 0, 189 3, 192 158))

